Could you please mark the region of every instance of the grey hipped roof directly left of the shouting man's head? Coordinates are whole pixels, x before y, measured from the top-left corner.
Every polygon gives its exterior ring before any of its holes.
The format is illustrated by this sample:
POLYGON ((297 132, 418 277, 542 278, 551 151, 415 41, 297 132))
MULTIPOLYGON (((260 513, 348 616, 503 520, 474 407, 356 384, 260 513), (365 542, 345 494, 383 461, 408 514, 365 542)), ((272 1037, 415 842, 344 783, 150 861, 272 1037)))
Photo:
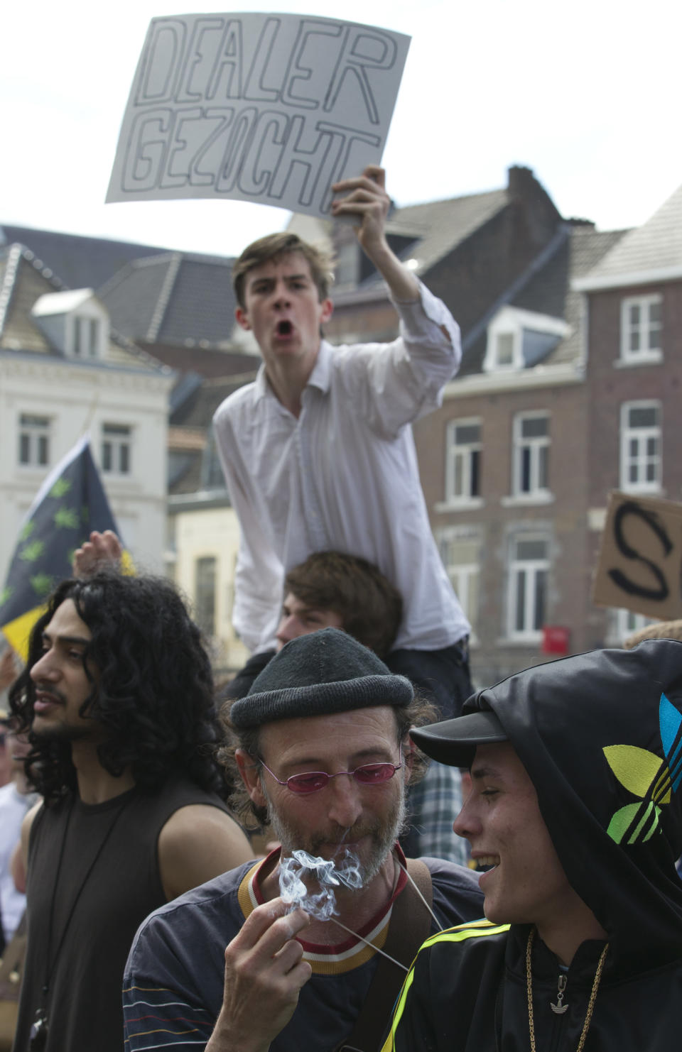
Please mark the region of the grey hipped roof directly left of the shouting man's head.
POLYGON ((98 296, 131 339, 227 346, 236 306, 232 264, 227 257, 164 252, 126 264, 98 296))

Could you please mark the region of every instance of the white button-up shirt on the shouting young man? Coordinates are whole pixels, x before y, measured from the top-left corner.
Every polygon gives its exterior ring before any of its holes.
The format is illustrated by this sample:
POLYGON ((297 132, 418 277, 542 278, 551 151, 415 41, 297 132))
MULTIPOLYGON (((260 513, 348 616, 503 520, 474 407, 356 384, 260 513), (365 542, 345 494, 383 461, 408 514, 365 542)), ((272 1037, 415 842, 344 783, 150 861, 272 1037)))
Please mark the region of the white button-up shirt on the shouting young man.
POLYGON ((393 343, 322 341, 298 419, 264 366, 214 417, 241 527, 233 620, 250 650, 274 646, 284 574, 314 551, 362 555, 400 590, 396 648, 438 650, 469 631, 430 531, 409 426, 440 405, 461 359, 459 327, 423 285, 421 300, 397 307, 393 343))

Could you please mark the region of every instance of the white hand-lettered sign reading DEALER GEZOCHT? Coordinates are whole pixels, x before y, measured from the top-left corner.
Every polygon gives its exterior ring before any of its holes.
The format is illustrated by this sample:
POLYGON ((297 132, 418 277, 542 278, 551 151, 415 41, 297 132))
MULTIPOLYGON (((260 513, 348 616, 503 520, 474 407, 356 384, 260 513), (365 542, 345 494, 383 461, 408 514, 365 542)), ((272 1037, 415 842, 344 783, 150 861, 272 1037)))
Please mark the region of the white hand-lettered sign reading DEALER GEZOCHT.
POLYGON ((155 18, 107 201, 228 198, 326 216, 381 160, 409 37, 301 15, 155 18))

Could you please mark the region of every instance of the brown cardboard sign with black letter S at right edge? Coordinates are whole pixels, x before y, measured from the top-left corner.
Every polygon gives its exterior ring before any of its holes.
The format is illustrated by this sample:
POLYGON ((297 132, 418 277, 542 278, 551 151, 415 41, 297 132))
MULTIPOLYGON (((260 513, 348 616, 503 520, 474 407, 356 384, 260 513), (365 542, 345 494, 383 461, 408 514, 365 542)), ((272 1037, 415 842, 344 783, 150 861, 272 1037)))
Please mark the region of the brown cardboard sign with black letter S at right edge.
POLYGON ((682 616, 682 504, 610 493, 593 600, 662 621, 682 616))

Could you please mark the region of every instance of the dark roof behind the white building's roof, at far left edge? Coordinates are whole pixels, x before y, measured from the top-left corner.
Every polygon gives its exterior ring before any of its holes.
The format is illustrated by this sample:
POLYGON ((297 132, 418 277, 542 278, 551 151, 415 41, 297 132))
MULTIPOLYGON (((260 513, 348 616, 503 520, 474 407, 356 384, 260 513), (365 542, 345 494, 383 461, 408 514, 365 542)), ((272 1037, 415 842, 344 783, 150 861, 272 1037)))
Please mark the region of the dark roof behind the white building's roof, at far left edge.
POLYGON ((41 266, 59 275, 67 288, 98 288, 131 260, 167 251, 129 241, 0 224, 0 245, 13 242, 25 245, 41 266))

